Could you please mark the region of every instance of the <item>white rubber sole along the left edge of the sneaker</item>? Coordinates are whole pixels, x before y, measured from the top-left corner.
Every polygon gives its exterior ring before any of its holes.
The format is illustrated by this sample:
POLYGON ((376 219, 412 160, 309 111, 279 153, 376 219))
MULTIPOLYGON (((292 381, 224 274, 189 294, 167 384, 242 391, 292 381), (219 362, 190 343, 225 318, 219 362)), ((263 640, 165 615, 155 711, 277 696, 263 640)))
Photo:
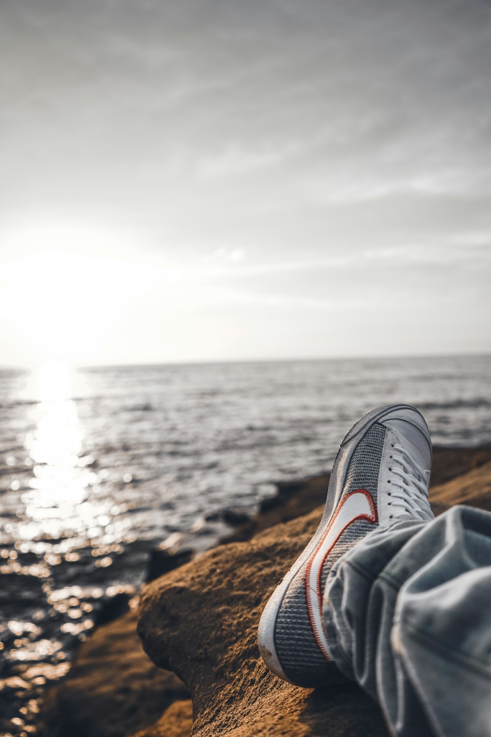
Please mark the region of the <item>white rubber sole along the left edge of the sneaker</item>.
MULTIPOLYGON (((342 491, 345 486, 347 469, 349 467, 351 456, 353 455, 353 451, 355 450, 358 441, 360 441, 360 439, 367 433, 367 431, 370 430, 370 427, 372 427, 375 422, 384 419, 384 416, 386 414, 392 413, 394 411, 400 411, 402 409, 410 409, 411 411, 414 411, 414 407, 411 407, 410 405, 385 405, 384 407, 378 407, 359 419, 358 422, 356 422, 355 425, 353 425, 353 427, 351 427, 349 432, 346 434, 341 446, 339 447, 338 454, 336 455, 336 460, 333 464, 324 512, 322 514, 322 519, 320 520, 317 531, 314 533, 314 537, 311 538, 310 542, 297 558, 297 560, 294 562, 288 573, 286 573, 286 576, 284 576, 284 578, 280 581, 275 591, 269 598, 266 607, 264 607, 263 613, 261 614, 261 619, 258 626, 258 645, 261 656, 270 671, 275 673, 283 680, 288 681, 289 683, 294 682, 290 680, 284 673, 275 646, 276 619, 278 616, 278 611, 283 602, 283 598, 289 588, 289 585, 292 583, 295 576, 297 576, 297 573, 299 572, 301 567, 303 567, 305 562, 309 559, 311 554, 314 553, 317 548, 317 542, 319 542, 319 539, 322 537, 322 534, 325 532, 325 529, 328 527, 329 523, 331 523, 333 512, 335 511, 342 496, 342 491)), ((418 414, 420 413, 418 412, 418 414)))

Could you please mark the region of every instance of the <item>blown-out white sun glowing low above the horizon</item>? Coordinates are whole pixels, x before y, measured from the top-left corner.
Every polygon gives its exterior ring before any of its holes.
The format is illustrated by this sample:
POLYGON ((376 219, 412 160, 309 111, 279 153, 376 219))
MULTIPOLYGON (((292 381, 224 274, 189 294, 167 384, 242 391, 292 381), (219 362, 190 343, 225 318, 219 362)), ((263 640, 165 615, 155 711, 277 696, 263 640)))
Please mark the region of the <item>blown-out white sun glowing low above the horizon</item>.
POLYGON ((75 227, 31 228, 12 245, 0 307, 31 346, 29 363, 90 361, 131 299, 131 266, 97 254, 97 238, 75 227))

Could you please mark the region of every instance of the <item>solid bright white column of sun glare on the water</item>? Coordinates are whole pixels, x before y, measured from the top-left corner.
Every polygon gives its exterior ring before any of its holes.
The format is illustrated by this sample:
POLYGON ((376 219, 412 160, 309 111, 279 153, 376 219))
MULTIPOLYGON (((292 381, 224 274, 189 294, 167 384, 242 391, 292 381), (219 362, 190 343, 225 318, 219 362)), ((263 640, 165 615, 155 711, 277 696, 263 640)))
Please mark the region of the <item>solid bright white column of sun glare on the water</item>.
MULTIPOLYGON (((64 553, 88 540, 104 537, 112 542, 130 525, 129 520, 114 525, 119 510, 105 483, 107 469, 94 468, 96 458, 88 450, 91 441, 77 409, 77 388, 82 390, 77 371, 61 361, 32 372, 26 388, 27 396, 35 399, 32 430, 24 438, 29 472, 12 486, 13 491, 25 488, 17 537, 64 539, 60 543, 64 553)), ((122 481, 128 483, 131 475, 122 481)))

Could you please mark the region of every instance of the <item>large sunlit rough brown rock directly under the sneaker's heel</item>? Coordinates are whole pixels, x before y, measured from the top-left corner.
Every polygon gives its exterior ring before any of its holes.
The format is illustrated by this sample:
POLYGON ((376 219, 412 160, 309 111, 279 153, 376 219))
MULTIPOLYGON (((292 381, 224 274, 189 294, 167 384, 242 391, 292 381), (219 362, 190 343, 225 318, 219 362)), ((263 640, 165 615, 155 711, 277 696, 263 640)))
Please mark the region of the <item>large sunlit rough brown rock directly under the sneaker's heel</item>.
POLYGON ((387 734, 378 706, 356 685, 295 688, 269 673, 259 657, 261 610, 320 514, 317 509, 250 542, 216 548, 144 592, 138 632, 155 663, 188 685, 194 736, 387 734))

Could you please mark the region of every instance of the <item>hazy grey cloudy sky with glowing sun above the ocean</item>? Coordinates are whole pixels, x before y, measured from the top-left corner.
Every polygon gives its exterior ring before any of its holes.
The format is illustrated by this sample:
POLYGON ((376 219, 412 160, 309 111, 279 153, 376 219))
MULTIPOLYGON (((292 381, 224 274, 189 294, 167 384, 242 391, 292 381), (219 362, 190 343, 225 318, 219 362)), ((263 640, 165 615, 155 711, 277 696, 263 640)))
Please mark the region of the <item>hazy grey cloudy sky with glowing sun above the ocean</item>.
POLYGON ((0 365, 491 349, 491 3, 1 0, 0 365))

